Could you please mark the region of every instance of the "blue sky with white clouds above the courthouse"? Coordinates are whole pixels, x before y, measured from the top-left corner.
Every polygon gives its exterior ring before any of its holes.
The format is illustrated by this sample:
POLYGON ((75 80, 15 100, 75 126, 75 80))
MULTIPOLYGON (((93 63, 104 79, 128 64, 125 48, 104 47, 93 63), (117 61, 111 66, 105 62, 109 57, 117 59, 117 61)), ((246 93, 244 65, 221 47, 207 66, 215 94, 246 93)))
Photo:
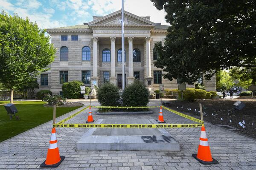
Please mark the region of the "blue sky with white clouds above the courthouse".
MULTIPOLYGON (((82 25, 92 16, 105 16, 122 8, 121 0, 0 0, 0 9, 22 18, 28 17, 40 28, 82 25)), ((166 23, 165 11, 157 11, 150 0, 124 0, 124 10, 150 16, 154 23, 166 23)))

